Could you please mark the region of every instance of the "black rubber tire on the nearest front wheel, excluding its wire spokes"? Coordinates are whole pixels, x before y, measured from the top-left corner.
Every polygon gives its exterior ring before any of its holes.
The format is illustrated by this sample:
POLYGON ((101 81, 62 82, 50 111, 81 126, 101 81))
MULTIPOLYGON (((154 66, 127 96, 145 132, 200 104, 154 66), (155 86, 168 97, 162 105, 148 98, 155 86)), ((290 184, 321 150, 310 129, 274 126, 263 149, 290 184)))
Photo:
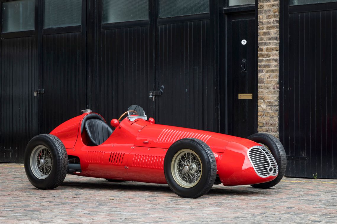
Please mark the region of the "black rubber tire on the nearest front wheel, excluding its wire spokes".
MULTIPOLYGON (((194 165, 193 165, 194 166, 194 165)), ((192 169, 194 169, 192 167, 192 169)), ((186 172, 187 173, 187 172, 186 172)), ((168 148, 164 160, 164 174, 168 186, 180 197, 197 198, 206 194, 213 186, 216 178, 216 161, 210 147, 203 141, 195 138, 184 138, 176 141, 168 148), (202 165, 201 176, 195 185, 183 187, 174 179, 171 170, 173 159, 183 149, 193 151, 202 165)))

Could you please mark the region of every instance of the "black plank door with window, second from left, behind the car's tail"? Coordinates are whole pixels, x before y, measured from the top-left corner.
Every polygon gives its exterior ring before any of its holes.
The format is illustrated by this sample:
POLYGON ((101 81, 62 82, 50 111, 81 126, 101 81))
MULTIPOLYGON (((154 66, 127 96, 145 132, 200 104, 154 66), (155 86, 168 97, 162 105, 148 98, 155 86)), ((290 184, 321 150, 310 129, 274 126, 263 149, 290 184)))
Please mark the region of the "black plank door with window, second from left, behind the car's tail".
POLYGON ((86 108, 85 6, 85 0, 41 1, 41 133, 49 133, 86 108))

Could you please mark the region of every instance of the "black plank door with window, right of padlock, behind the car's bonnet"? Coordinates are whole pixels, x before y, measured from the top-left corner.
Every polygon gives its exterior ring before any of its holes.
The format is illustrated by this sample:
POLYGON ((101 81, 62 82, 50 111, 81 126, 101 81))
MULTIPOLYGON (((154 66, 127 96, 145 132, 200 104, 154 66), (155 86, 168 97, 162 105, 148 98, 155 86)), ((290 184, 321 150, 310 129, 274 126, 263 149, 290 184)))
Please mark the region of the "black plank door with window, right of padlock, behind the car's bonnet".
POLYGON ((205 0, 158 1, 155 101, 160 124, 219 129, 217 6, 205 0))

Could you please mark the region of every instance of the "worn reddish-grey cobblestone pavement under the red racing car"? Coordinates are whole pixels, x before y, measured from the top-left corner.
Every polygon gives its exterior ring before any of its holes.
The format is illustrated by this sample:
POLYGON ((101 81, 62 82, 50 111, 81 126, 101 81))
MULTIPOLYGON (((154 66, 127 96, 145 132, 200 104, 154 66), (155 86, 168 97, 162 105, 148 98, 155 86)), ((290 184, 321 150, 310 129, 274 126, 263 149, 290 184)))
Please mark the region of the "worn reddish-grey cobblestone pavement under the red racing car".
POLYGON ((270 189, 214 185, 197 199, 167 185, 67 175, 38 190, 22 164, 0 164, 0 223, 337 223, 337 180, 283 178, 270 189))

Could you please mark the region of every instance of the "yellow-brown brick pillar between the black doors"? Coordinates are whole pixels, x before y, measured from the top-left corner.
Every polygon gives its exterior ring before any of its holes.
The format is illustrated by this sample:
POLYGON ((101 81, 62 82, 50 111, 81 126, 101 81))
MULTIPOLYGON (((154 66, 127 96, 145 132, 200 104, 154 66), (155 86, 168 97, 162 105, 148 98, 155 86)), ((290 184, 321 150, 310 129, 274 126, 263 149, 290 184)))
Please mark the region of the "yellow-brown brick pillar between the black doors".
POLYGON ((257 131, 279 137, 279 0, 258 0, 257 131))

